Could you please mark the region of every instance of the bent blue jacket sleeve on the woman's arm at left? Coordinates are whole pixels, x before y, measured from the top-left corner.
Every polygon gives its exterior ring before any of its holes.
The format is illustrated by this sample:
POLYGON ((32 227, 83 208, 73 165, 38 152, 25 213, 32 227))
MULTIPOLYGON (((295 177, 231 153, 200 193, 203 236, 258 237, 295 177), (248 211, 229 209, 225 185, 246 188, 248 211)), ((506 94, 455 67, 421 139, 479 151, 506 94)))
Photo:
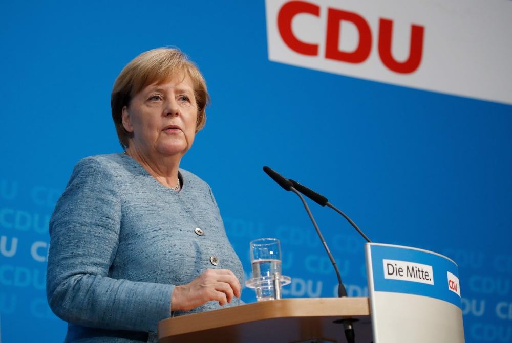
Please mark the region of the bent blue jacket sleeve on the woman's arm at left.
POLYGON ((108 277, 120 230, 121 201, 107 162, 83 159, 50 220, 48 303, 72 324, 156 332, 170 316, 174 285, 108 277))

